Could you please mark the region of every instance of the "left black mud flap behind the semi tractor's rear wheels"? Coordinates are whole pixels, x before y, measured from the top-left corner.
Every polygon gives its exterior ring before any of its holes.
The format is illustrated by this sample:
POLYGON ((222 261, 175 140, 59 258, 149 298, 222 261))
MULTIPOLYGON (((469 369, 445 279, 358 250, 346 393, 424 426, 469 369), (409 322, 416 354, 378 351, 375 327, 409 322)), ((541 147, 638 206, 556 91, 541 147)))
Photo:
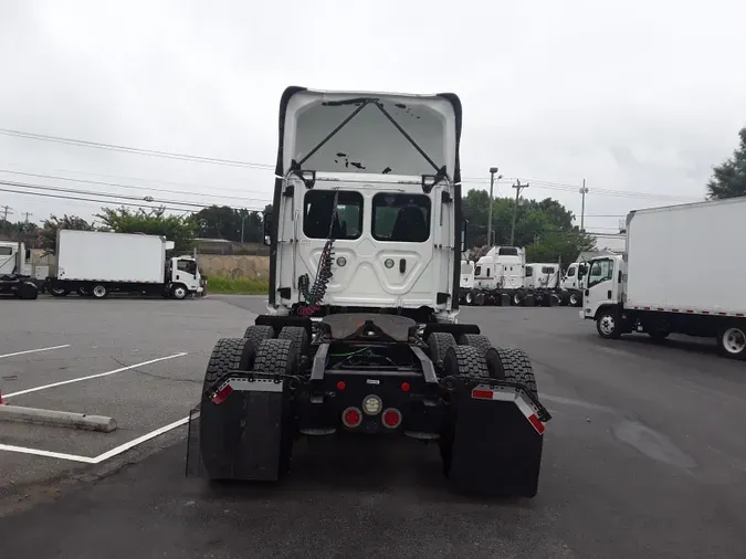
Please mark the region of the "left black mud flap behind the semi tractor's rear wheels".
POLYGON ((286 393, 233 390, 189 414, 187 477, 273 482, 288 466, 286 393))

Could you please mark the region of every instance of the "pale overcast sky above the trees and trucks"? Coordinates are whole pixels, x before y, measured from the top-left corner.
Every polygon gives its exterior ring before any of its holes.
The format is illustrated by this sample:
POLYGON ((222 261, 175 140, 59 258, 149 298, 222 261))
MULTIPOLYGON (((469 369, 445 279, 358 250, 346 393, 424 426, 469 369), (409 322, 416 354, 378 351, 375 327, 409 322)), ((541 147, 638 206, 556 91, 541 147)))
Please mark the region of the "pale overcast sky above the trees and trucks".
MULTIPOLYGON (((619 218, 599 215, 701 199, 746 125, 737 0, 269 4, 0 0, 0 128, 272 167, 287 85, 451 91, 464 108, 463 177, 497 166, 533 179, 527 197, 578 215, 585 178, 586 228, 608 232, 619 218)), ((273 186, 269 168, 2 134, 0 169, 143 189, 0 181, 246 208, 269 203, 273 186)), ((4 204, 36 222, 101 207, 0 191, 4 204)))

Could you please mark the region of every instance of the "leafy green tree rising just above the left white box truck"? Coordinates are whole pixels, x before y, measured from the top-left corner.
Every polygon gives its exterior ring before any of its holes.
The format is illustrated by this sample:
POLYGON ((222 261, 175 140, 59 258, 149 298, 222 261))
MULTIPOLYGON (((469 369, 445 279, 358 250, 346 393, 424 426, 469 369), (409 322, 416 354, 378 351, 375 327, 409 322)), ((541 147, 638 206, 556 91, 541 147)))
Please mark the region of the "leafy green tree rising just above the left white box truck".
POLYGON ((165 208, 145 210, 139 208, 102 208, 97 214, 102 221, 102 231, 115 233, 143 233, 146 235, 160 235, 174 241, 176 251, 188 251, 195 243, 195 233, 199 229, 198 222, 192 215, 166 214, 165 208))

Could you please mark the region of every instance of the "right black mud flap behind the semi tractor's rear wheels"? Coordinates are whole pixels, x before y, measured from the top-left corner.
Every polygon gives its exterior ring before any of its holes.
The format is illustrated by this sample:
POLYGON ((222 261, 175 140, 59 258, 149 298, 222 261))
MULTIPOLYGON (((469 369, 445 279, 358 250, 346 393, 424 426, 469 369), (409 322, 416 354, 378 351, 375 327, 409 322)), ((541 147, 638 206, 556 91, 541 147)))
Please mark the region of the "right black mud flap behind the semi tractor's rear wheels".
POLYGON ((453 395, 451 483, 464 493, 534 497, 544 444, 539 409, 511 388, 460 384, 453 395))

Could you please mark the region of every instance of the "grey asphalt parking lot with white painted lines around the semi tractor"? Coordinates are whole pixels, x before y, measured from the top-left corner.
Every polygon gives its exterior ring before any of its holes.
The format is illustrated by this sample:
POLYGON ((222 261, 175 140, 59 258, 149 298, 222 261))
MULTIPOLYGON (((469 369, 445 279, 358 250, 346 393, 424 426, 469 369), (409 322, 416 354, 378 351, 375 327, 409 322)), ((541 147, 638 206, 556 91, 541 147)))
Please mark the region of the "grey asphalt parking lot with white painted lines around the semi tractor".
POLYGON ((3 398, 118 424, 0 423, 2 555, 743 557, 746 363, 685 338, 605 341, 575 308, 461 315, 532 357, 554 414, 534 499, 452 494, 437 446, 411 441, 302 441, 279 486, 186 478, 183 422, 210 350, 263 307, 0 300, 3 398))

